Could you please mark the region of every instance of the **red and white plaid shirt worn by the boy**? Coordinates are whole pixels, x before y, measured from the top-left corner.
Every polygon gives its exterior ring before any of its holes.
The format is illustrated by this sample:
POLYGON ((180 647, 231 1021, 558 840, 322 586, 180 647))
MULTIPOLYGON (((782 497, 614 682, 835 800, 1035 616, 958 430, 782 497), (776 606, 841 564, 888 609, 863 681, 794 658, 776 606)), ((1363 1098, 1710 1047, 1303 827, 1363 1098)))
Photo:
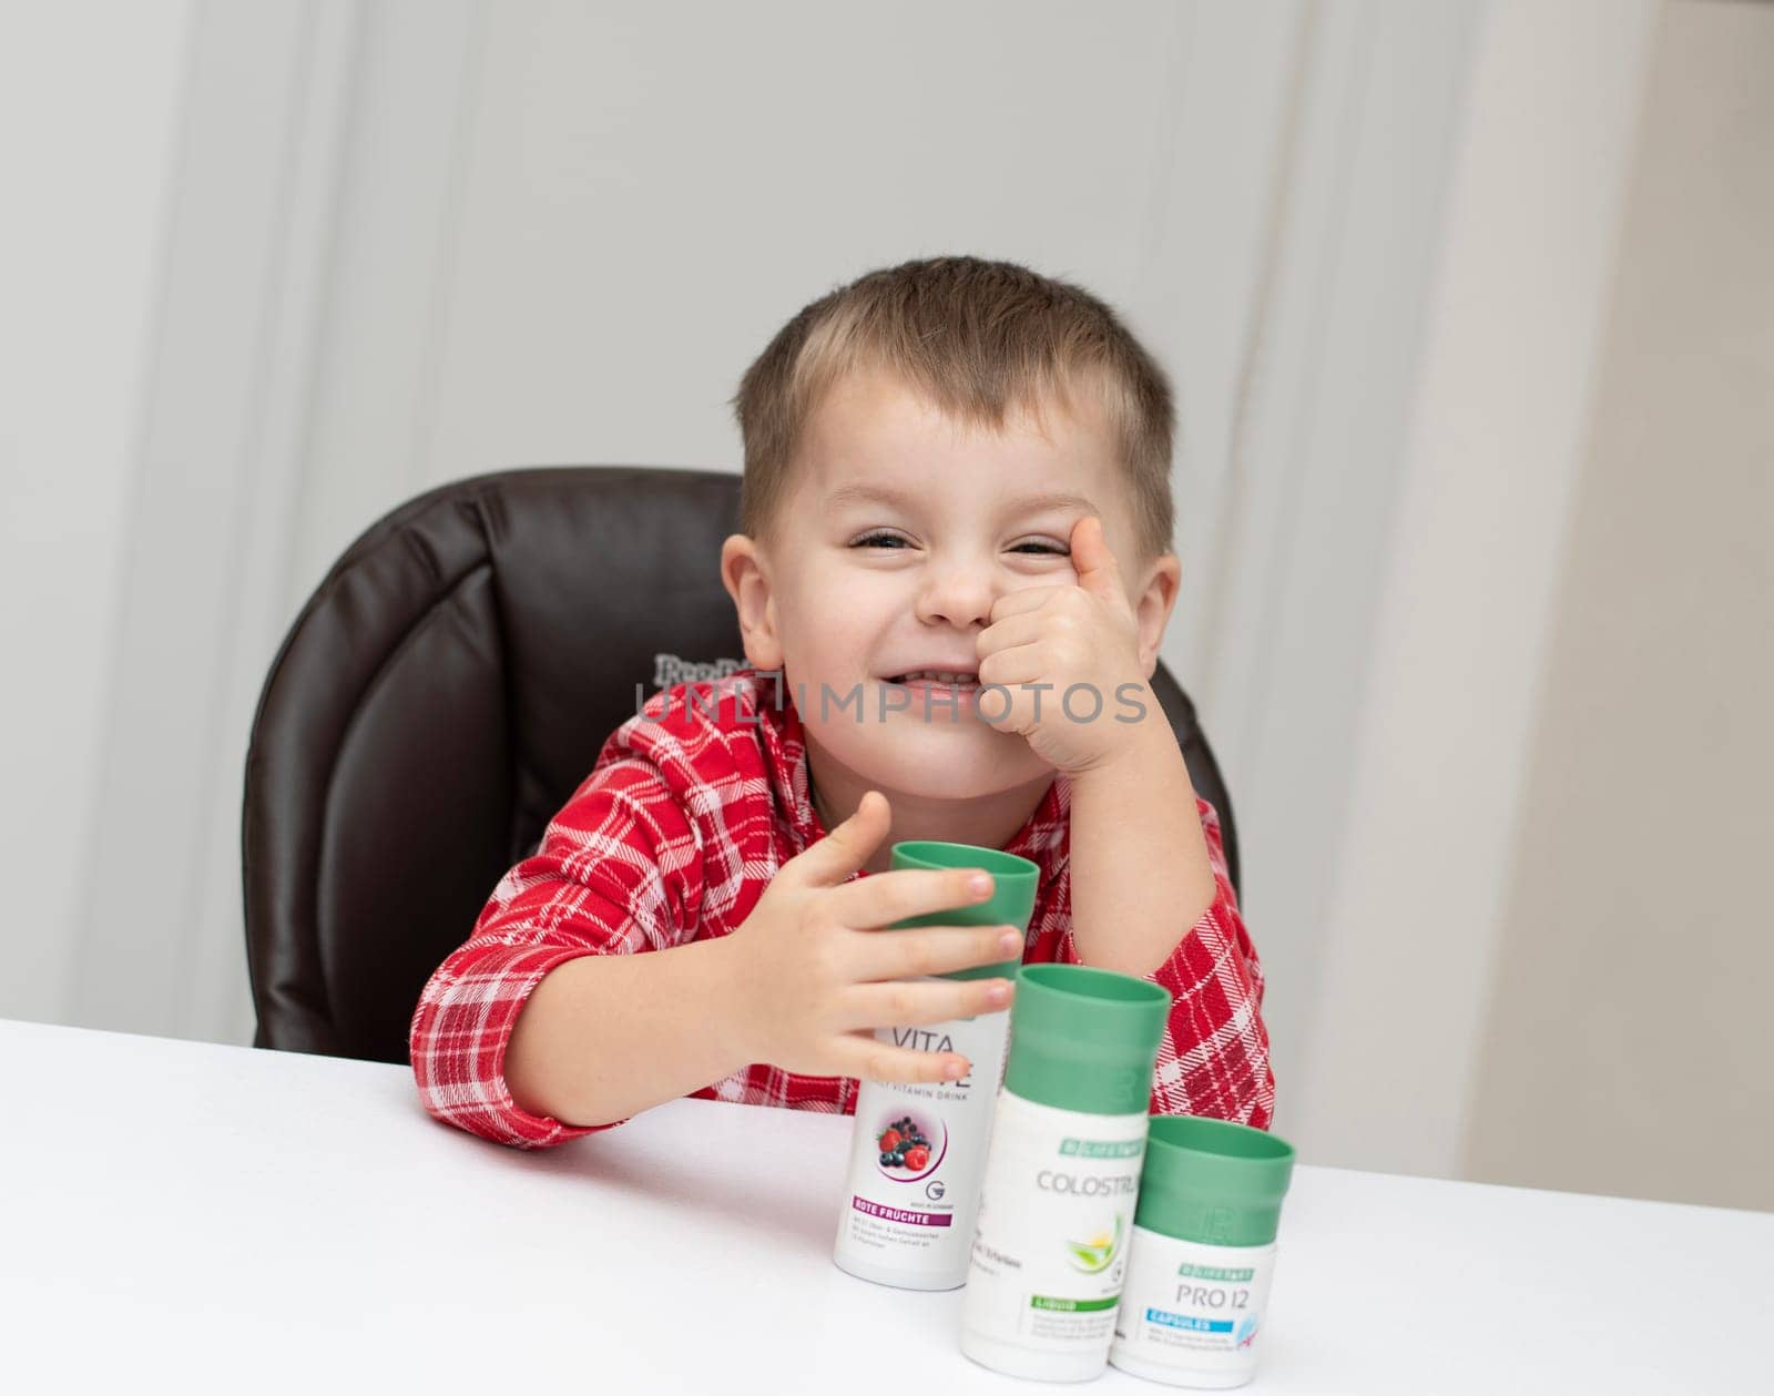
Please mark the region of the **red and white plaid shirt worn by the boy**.
MULTIPOLYGON (((504 1073, 513 1023, 538 981, 575 956, 731 935, 777 869, 825 837, 809 798, 800 715, 786 692, 781 704, 775 694, 775 681, 752 669, 678 685, 605 741, 541 846, 506 873, 474 933, 419 999, 412 1059, 431 1114, 522 1148, 612 1128, 562 1125, 518 1107, 504 1073)), ((1071 944, 1070 798, 1066 777, 1056 777, 1008 844, 1041 867, 1022 956, 1029 965, 1080 963, 1071 944)), ((1197 805, 1217 892, 1146 976, 1171 995, 1151 1109, 1267 1128, 1276 1084, 1263 970, 1226 876, 1219 816, 1205 800, 1197 805)), ((857 1082, 757 1063, 694 1094, 852 1114, 857 1082)))

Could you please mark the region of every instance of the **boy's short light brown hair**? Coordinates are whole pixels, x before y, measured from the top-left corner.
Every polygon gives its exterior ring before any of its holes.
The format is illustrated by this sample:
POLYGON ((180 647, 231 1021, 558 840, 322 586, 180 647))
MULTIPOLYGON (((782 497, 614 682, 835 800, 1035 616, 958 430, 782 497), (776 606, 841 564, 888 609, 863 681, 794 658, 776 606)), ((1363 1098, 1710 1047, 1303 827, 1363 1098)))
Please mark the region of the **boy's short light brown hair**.
POLYGON ((733 397, 745 442, 740 527, 763 537, 825 392, 857 367, 887 369, 965 426, 1071 412, 1095 392, 1118 443, 1141 561, 1171 548, 1171 383, 1114 310, 1015 263, 928 257, 869 271, 807 305, 745 371, 733 397))

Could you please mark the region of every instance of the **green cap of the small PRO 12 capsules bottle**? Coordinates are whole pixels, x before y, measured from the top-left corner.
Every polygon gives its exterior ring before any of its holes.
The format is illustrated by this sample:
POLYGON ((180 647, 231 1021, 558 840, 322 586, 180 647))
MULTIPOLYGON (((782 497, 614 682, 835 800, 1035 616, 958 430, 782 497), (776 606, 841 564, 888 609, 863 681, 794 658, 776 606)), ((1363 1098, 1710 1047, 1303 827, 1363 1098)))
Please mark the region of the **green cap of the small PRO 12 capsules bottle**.
POLYGON ((1291 1178, 1286 1139, 1228 1119, 1153 1116, 1134 1222, 1203 1245, 1268 1245, 1291 1178))

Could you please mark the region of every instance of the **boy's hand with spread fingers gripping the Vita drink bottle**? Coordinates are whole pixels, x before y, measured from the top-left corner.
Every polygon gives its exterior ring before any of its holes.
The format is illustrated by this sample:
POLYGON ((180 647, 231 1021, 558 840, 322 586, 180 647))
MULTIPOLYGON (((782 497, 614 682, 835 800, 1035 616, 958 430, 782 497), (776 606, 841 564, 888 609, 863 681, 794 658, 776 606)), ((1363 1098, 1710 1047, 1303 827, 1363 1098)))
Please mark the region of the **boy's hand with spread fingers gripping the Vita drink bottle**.
POLYGON ((756 1061, 812 1077, 958 1080, 958 1052, 919 1052, 875 1039, 878 1027, 928 1027, 1009 1004, 1009 979, 917 976, 1020 960, 1015 926, 915 926, 914 915, 992 896, 974 869, 899 869, 844 882, 887 835, 887 796, 869 791, 857 812, 782 864, 752 914, 733 933, 740 1031, 756 1061))

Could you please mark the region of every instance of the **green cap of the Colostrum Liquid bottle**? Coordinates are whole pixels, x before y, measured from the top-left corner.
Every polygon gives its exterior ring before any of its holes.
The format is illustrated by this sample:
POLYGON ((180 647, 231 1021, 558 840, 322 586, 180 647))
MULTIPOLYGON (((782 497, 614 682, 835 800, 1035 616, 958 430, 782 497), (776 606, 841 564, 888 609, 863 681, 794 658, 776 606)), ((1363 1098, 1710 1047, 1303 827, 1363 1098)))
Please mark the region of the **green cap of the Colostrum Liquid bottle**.
POLYGON ((1171 995, 1087 965, 1024 965, 1009 1009, 1004 1089, 1038 1105, 1144 1114, 1171 995))

